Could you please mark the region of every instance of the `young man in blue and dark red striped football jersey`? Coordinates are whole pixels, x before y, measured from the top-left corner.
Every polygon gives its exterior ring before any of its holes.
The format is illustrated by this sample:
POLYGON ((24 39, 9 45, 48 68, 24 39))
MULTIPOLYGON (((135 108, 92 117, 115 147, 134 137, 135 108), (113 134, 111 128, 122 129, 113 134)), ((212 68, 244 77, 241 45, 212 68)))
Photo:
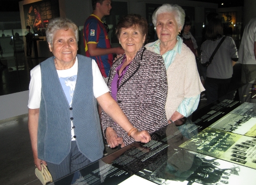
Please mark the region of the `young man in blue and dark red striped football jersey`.
POLYGON ((84 24, 85 53, 96 61, 107 83, 113 54, 124 54, 125 51, 121 47, 111 48, 109 27, 102 21, 105 15, 110 14, 111 0, 92 0, 92 4, 93 13, 84 24))

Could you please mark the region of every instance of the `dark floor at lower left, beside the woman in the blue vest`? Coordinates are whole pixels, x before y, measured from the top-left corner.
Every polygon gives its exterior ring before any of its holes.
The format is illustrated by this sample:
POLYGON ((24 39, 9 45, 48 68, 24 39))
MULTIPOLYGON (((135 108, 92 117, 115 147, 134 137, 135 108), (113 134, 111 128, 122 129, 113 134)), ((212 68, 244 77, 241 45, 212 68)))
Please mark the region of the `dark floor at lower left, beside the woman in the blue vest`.
POLYGON ((0 121, 0 184, 40 185, 34 175, 27 114, 0 121))

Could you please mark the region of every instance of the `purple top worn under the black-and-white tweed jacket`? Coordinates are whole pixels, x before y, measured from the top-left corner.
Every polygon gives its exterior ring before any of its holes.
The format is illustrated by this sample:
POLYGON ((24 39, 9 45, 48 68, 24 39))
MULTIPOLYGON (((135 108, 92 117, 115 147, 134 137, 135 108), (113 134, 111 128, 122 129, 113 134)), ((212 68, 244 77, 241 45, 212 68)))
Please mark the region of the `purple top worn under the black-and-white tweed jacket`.
POLYGON ((112 97, 117 100, 117 93, 118 93, 118 87, 120 86, 120 82, 122 81, 123 77, 125 76, 126 74, 126 71, 128 70, 128 67, 130 64, 128 64, 122 71, 122 73, 119 75, 119 70, 121 69, 121 67, 123 66, 124 64, 124 61, 125 61, 126 57, 123 59, 123 62, 122 64, 120 64, 117 69, 116 69, 116 75, 114 76, 113 80, 112 80, 112 83, 111 83, 111 94, 112 94, 112 97))

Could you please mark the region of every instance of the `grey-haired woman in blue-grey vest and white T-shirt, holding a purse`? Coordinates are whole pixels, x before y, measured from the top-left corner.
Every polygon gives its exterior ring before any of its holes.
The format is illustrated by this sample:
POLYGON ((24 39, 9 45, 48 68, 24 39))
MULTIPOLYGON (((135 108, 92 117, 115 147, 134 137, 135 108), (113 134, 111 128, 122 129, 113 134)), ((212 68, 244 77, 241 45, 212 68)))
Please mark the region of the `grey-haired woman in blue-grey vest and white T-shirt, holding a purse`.
MULTIPOLYGON (((110 95, 96 62, 77 54, 77 26, 55 18, 46 38, 53 57, 31 70, 28 128, 36 167, 47 165, 55 181, 103 157, 96 99, 127 133, 133 126, 110 95)), ((150 140, 147 131, 130 136, 150 140)))

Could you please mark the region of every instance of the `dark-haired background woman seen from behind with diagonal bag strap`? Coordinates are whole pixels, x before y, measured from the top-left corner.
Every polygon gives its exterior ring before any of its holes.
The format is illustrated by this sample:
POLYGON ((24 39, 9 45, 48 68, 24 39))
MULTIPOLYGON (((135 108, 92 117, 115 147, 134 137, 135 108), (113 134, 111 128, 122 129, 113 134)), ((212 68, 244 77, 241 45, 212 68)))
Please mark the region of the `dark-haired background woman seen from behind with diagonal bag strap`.
MULTIPOLYGON (((212 53, 223 37, 221 19, 212 18, 206 30, 207 40, 202 44, 202 64, 209 61, 212 53)), ((228 93, 233 74, 233 66, 237 61, 238 52, 235 41, 232 37, 227 36, 214 55, 212 63, 207 67, 205 82, 207 103, 211 103, 228 93)))

